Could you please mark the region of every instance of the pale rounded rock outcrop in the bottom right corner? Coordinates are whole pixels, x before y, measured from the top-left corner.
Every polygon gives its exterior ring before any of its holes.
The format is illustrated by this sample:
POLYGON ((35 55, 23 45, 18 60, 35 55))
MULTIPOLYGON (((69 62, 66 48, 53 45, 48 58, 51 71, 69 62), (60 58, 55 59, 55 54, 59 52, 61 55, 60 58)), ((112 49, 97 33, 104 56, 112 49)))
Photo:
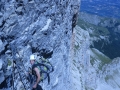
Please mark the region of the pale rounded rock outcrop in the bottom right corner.
POLYGON ((109 89, 119 90, 120 89, 120 57, 114 58, 112 62, 104 65, 102 68, 101 82, 99 83, 98 90, 109 89), (102 86, 102 87, 101 87, 102 86))

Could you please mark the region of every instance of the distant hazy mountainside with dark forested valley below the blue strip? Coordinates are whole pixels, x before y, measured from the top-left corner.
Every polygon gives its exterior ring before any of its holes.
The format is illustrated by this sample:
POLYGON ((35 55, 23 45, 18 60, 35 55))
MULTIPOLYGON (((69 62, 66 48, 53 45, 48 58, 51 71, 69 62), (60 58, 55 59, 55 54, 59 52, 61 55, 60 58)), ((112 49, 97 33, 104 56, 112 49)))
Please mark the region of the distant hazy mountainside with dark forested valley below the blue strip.
POLYGON ((97 48, 111 59, 120 56, 120 20, 80 13, 78 25, 89 31, 91 47, 97 48))

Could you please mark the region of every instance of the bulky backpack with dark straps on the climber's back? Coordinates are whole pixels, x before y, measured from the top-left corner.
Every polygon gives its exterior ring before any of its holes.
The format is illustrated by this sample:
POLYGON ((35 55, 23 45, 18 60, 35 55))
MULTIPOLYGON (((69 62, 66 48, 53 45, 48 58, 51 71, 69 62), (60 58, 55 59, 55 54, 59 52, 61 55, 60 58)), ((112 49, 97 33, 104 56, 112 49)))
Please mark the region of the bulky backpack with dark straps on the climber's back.
POLYGON ((34 72, 34 68, 37 67, 40 71, 40 81, 45 80, 46 78, 48 78, 48 84, 50 83, 50 76, 49 74, 51 72, 53 72, 53 66, 51 65, 51 63, 44 58, 40 58, 39 60, 37 60, 35 62, 35 64, 32 66, 32 72, 34 75, 36 75, 36 73, 34 72))

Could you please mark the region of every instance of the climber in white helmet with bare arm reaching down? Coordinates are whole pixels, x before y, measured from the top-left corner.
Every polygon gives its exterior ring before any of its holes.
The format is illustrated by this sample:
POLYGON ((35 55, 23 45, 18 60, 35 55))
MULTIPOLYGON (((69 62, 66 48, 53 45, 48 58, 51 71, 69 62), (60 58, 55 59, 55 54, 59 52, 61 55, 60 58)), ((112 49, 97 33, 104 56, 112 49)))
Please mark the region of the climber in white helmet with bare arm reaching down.
POLYGON ((40 71, 35 67, 35 55, 30 55, 30 63, 32 65, 32 74, 36 76, 36 82, 33 84, 32 90, 43 90, 42 87, 38 84, 40 82, 40 71))

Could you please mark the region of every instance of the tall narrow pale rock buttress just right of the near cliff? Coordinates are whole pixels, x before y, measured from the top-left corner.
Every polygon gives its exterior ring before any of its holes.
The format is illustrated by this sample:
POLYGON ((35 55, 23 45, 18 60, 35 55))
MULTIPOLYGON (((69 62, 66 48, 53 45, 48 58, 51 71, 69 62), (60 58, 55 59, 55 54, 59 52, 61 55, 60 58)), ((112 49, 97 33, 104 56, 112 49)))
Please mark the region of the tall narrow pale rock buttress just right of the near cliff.
POLYGON ((73 84, 76 86, 76 90, 89 90, 89 88, 94 89, 96 86, 94 78, 96 73, 93 73, 95 69, 91 67, 90 63, 89 40, 89 33, 79 26, 76 26, 71 73, 74 78, 73 84))

